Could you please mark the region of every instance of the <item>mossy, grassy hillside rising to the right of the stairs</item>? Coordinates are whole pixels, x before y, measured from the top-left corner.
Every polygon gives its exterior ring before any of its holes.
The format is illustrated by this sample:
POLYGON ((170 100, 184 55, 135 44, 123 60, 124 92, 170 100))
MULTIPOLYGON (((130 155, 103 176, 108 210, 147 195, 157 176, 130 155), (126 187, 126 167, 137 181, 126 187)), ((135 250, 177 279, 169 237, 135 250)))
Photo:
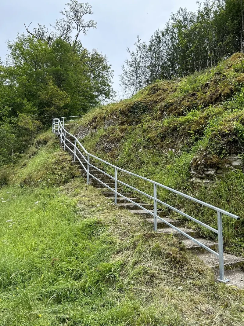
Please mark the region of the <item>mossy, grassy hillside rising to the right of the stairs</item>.
MULTIPOLYGON (((243 82, 244 55, 236 53, 202 73, 158 81, 130 99, 92 110, 73 132, 89 152, 121 168, 244 217, 243 82)), ((130 184, 152 193, 137 180, 130 178, 130 184)), ((216 227, 210 210, 165 190, 160 196, 216 227)), ((242 221, 224 218, 227 251, 243 254, 242 221)))

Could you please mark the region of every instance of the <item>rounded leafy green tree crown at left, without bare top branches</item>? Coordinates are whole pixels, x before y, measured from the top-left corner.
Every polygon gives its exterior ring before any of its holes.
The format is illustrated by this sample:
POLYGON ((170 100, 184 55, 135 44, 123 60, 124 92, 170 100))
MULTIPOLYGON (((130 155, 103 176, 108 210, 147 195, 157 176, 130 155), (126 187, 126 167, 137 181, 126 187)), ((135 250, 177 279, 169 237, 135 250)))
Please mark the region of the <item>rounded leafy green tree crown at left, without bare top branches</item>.
POLYGON ((53 117, 87 112, 112 95, 111 66, 96 50, 89 52, 78 43, 74 51, 61 38, 49 46, 24 34, 8 48, 1 79, 9 97, 2 97, 15 116, 34 114, 50 124, 53 117))

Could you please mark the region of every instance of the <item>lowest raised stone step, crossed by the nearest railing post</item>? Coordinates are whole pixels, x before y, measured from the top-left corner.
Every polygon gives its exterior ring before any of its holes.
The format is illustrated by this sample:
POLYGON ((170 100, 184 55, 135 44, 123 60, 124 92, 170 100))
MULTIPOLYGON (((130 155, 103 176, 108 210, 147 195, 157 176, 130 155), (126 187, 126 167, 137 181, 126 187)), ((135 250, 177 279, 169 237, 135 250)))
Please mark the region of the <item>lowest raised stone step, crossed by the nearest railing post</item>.
MULTIPOLYGON (((197 257, 213 269, 219 268, 219 258, 210 252, 197 253, 197 257)), ((224 270, 237 269, 244 266, 244 259, 231 254, 224 254, 224 270)))

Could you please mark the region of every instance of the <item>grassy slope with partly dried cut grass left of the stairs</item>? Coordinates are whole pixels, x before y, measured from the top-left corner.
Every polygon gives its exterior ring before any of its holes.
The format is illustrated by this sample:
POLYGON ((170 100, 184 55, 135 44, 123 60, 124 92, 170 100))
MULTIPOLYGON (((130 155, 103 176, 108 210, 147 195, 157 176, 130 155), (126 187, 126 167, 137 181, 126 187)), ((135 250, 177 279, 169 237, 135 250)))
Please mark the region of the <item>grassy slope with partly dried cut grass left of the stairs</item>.
POLYGON ((50 132, 1 175, 0 325, 243 324, 242 290, 86 185, 50 132))

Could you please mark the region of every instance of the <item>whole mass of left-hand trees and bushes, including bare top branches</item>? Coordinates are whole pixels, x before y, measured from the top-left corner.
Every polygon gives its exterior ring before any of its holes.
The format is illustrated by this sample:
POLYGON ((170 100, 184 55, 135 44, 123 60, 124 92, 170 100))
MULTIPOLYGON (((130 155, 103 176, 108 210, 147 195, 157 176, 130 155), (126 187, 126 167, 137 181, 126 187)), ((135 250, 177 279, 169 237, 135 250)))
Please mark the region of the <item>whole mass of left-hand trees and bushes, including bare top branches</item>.
POLYGON ((18 157, 53 117, 79 115, 113 95, 107 58, 78 39, 96 27, 84 21, 91 7, 71 0, 61 13, 65 18, 54 30, 38 24, 30 32, 28 26, 8 42, 6 63, 0 63, 0 166, 18 157))

